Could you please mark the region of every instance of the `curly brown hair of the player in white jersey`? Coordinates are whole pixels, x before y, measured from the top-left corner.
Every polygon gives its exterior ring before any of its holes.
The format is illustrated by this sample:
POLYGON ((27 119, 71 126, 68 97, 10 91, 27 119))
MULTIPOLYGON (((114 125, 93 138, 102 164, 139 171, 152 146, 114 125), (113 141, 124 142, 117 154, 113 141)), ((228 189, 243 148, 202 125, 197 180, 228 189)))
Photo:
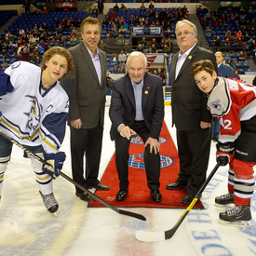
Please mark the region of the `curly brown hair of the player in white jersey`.
POLYGON ((47 49, 47 51, 44 53, 43 61, 40 64, 42 70, 45 70, 47 68, 46 61, 49 61, 55 54, 61 55, 62 57, 66 58, 68 62, 67 73, 73 70, 73 57, 71 53, 64 47, 50 47, 49 49, 47 49))

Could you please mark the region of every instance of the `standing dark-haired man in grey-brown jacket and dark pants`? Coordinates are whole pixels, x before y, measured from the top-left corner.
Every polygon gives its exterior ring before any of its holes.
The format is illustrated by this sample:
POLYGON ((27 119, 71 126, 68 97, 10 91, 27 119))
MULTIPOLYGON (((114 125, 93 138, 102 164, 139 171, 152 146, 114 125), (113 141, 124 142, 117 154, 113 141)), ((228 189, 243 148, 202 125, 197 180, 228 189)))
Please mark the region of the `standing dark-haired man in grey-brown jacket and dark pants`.
MULTIPOLYGON (((61 86, 70 99, 68 124, 71 131, 72 173, 74 182, 86 188, 109 190, 109 186, 98 180, 106 87, 112 88, 112 81, 106 77, 105 54, 97 47, 101 38, 100 21, 91 17, 83 20, 81 35, 83 42, 69 48, 74 58, 74 70, 61 80, 61 86)), ((75 195, 81 200, 93 200, 79 188, 75 189, 75 195)))

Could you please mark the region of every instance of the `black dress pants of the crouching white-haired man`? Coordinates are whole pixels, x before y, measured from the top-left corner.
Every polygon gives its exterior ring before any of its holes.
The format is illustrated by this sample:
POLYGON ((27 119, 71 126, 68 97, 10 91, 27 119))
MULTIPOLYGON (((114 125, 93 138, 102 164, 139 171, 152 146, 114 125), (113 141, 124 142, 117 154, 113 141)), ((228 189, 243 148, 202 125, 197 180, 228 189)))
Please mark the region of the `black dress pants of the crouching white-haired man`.
MULTIPOLYGON (((136 131, 142 141, 145 143, 149 138, 149 129, 144 121, 134 121, 130 127, 136 131)), ((158 140, 158 138, 157 138, 158 140)), ((128 188, 128 149, 130 141, 119 135, 115 139, 115 166, 119 178, 119 188, 125 190, 128 188)), ((160 186, 160 155, 155 152, 150 153, 150 145, 147 145, 144 150, 144 164, 146 169, 147 184, 152 189, 158 189, 160 186)), ((139 185, 139 184, 138 184, 139 185)))

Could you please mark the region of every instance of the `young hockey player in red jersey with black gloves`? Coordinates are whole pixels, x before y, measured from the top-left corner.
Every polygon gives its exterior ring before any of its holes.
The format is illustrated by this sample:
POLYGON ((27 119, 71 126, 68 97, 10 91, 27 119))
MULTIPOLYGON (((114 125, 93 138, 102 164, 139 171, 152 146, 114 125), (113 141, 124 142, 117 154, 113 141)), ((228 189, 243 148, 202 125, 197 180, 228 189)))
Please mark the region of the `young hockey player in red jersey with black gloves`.
POLYGON ((191 75, 200 90, 209 96, 211 115, 221 123, 217 161, 229 163, 228 194, 215 203, 235 208, 220 213, 220 222, 249 225, 250 197, 254 192, 253 166, 256 165, 256 88, 236 79, 218 77, 211 61, 197 61, 191 75))

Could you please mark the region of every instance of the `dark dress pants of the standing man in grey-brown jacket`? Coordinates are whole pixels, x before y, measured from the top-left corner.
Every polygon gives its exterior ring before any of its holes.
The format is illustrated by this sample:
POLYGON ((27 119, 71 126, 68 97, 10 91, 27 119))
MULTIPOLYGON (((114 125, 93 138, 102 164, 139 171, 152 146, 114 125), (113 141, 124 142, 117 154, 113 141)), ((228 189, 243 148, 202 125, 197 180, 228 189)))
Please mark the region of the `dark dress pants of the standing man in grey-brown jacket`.
MULTIPOLYGON (((101 161, 102 132, 99 124, 96 128, 71 127, 71 157, 72 174, 74 182, 84 187, 99 183, 98 175, 101 161), (84 156, 86 156, 86 168, 84 174, 84 156)), ((75 187, 77 193, 83 191, 75 187)))

